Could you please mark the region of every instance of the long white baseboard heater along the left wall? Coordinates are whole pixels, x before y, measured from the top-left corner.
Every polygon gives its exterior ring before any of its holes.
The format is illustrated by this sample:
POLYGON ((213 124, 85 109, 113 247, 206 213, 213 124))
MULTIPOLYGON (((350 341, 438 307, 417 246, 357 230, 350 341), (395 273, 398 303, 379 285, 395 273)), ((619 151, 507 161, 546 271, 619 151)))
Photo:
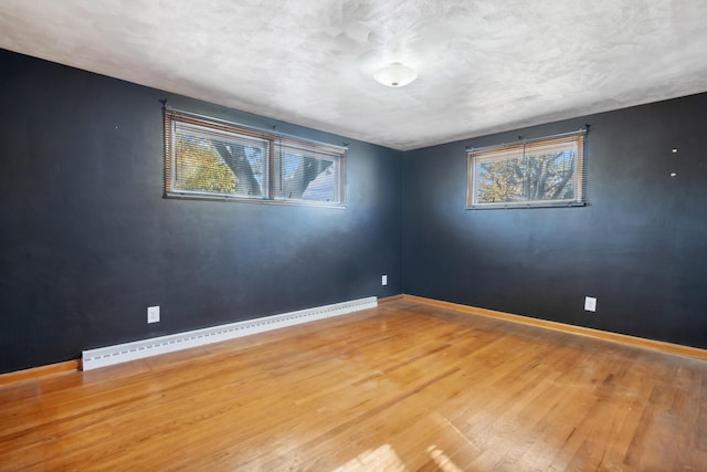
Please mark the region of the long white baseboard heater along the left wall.
POLYGON ((333 316, 345 315, 360 310, 374 308, 377 306, 378 298, 369 296, 367 298, 335 303, 333 305, 318 306, 315 308, 300 310, 297 312, 283 313, 262 318, 246 319, 244 322, 231 323, 228 325, 213 326, 210 328, 152 337, 149 339, 135 340, 115 346, 88 349, 82 353, 82 368, 83 370, 91 370, 98 367, 127 363, 128 360, 143 359, 145 357, 157 356, 159 354, 173 353, 176 350, 188 349, 190 347, 204 346, 211 343, 219 343, 286 326, 330 318, 333 316))

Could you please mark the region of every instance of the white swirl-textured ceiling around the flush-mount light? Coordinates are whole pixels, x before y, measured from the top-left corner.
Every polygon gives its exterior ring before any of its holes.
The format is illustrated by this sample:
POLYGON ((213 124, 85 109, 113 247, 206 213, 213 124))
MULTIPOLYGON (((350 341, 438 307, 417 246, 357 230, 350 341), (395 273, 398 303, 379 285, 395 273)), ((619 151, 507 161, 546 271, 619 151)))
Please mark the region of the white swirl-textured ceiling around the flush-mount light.
POLYGON ((0 46, 412 149, 707 91, 707 0, 2 0, 0 46))

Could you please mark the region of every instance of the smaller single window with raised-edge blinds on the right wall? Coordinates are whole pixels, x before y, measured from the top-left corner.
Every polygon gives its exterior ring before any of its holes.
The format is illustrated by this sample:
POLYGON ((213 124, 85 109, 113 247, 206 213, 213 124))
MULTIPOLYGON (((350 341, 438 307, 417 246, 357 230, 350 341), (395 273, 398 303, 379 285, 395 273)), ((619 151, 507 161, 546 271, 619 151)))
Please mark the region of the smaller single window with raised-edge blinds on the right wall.
POLYGON ((584 204, 585 130, 467 153, 467 208, 584 204))

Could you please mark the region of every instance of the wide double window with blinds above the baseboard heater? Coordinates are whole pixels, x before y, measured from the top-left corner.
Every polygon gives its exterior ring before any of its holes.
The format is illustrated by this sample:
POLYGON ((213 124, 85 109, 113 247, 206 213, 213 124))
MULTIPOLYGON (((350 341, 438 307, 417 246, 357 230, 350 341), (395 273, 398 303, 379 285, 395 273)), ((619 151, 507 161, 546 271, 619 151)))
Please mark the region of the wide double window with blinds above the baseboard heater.
POLYGON ((342 206, 338 146, 165 111, 165 195, 342 206))

